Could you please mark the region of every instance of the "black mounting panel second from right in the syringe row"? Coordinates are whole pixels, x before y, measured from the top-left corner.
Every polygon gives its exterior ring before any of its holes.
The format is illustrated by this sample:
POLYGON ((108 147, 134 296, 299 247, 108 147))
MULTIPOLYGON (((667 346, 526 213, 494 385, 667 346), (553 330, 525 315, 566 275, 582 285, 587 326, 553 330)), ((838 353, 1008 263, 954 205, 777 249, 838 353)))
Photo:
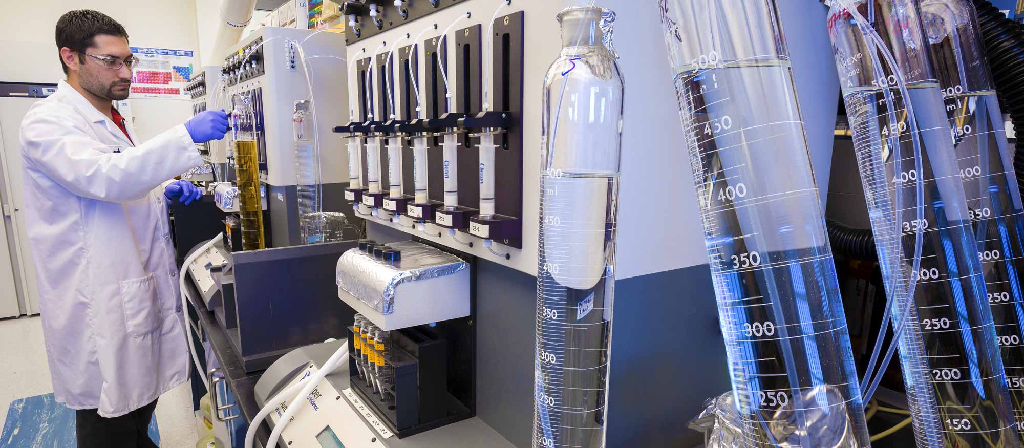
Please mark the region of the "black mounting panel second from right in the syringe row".
MULTIPOLYGON (((455 90, 458 101, 454 111, 479 114, 483 109, 483 47, 481 25, 474 25, 455 33, 456 63, 455 90)), ((474 139, 459 135, 459 205, 476 209, 480 207, 479 165, 480 151, 473 146, 474 139)))

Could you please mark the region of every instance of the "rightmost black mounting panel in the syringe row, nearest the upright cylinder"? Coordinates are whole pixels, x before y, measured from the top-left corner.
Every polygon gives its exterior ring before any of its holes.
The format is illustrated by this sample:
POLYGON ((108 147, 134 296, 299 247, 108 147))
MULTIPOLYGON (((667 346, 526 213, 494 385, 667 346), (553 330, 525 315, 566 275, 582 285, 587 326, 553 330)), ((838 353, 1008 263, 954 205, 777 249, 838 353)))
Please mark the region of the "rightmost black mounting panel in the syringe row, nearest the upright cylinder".
MULTIPOLYGON (((494 91, 490 92, 492 109, 510 113, 512 126, 508 133, 495 137, 495 211, 499 215, 522 221, 522 92, 523 92, 523 11, 498 17, 494 24, 492 54, 494 54, 494 91)), ((499 241, 505 245, 522 249, 522 238, 499 241)))

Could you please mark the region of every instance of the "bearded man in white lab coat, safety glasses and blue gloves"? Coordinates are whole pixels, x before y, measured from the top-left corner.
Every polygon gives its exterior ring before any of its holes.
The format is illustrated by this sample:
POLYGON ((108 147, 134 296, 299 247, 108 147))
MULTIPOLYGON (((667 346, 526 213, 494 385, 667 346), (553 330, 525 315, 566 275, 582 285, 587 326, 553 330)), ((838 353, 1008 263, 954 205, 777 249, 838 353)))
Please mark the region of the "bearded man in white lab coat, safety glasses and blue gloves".
POLYGON ((128 97, 138 59, 96 11, 56 25, 67 81, 22 122, 29 242, 57 401, 77 409, 78 448, 156 447, 161 394, 188 376, 167 203, 201 192, 170 180, 202 165, 196 143, 221 139, 209 110, 146 142, 112 101, 128 97))

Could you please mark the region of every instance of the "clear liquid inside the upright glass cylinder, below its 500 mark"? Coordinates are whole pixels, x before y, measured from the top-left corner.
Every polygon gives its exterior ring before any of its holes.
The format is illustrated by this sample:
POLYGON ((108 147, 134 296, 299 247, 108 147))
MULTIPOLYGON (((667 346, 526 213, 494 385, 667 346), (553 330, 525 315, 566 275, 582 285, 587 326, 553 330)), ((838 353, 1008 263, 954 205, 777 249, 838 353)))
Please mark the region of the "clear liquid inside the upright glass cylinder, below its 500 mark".
POLYGON ((535 446, 604 445, 616 173, 542 176, 535 446))

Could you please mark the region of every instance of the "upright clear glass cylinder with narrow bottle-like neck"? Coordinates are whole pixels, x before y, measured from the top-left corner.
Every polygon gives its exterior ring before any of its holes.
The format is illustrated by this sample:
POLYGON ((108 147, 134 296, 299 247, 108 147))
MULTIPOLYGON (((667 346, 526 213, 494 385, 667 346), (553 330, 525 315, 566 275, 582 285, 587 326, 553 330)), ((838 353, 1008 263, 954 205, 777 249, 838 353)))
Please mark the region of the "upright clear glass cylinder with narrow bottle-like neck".
POLYGON ((544 79, 535 448, 605 446, 624 85, 603 12, 558 14, 544 79))

